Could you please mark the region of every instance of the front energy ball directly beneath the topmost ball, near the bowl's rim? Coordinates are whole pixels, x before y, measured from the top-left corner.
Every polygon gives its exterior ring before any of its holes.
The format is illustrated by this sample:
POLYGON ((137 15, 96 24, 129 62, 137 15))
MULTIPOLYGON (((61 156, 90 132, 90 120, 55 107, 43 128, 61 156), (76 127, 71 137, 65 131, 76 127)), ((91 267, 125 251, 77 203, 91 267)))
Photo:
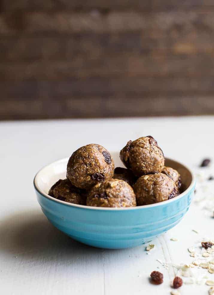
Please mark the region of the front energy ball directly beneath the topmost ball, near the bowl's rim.
POLYGON ((178 194, 174 181, 160 172, 138 178, 134 192, 138 206, 163 202, 178 194))

